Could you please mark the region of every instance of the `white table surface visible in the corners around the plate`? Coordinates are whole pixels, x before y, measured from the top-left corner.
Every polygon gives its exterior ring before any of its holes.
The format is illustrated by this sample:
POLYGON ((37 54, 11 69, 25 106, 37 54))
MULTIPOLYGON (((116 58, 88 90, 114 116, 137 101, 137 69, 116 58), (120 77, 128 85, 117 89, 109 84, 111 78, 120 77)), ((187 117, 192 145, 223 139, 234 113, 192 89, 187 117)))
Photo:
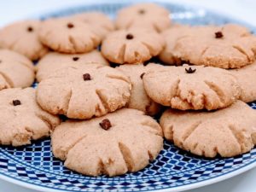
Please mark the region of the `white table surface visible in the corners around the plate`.
MULTIPOLYGON (((108 0, 110 2, 111 0, 108 0)), ((56 9, 67 8, 86 3, 100 3, 97 0, 0 0, 0 26, 14 20, 26 19, 32 15, 44 14, 56 9)), ((105 1, 107 2, 107 1, 105 1)), ((247 21, 256 26, 255 0, 170 0, 170 2, 194 4, 233 18, 247 21)), ((223 182, 214 183, 200 189, 191 189, 188 192, 255 192, 256 168, 223 182)), ((0 192, 35 192, 12 183, 0 180, 0 192)))

